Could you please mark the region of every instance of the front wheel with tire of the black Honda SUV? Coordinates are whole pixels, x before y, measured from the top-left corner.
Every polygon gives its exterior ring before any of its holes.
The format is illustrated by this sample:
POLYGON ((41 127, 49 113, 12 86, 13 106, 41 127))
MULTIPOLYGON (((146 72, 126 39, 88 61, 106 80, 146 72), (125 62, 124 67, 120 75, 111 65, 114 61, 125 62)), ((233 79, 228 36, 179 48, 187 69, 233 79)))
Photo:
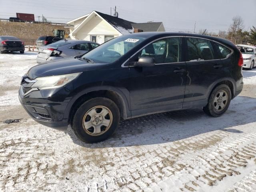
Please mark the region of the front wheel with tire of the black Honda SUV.
POLYGON ((103 97, 84 102, 75 112, 72 128, 76 136, 87 143, 94 143, 109 138, 120 120, 116 104, 103 97))

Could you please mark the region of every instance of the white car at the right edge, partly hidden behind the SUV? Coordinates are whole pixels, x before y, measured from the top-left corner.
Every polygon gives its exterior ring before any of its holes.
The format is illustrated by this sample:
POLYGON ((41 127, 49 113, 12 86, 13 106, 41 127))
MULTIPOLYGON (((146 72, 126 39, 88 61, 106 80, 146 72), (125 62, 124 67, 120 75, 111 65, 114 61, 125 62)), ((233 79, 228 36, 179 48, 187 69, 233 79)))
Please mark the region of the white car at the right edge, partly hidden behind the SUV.
POLYGON ((256 47, 250 45, 236 45, 242 52, 244 58, 243 68, 252 69, 256 66, 256 47))

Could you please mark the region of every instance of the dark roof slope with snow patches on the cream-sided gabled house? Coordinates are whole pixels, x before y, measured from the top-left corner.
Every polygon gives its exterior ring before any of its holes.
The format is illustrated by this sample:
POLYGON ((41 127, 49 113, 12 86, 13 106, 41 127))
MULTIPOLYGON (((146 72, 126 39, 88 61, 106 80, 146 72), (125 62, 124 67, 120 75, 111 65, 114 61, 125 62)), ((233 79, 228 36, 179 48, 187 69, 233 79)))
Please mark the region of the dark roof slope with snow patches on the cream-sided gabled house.
POLYGON ((118 30, 120 33, 122 34, 133 33, 132 24, 134 24, 134 22, 127 21, 118 17, 114 17, 108 14, 104 14, 98 11, 95 11, 95 12, 98 13, 110 25, 116 28, 116 30, 118 30))

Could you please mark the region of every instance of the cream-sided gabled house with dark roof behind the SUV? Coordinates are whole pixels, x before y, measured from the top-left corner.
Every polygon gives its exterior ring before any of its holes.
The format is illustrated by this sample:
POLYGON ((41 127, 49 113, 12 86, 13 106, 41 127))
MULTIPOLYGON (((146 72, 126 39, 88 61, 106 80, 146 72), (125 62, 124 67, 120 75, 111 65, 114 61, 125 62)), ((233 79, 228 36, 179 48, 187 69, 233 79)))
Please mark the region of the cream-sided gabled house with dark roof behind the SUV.
POLYGON ((114 37, 134 32, 134 29, 148 31, 165 31, 162 22, 134 23, 108 14, 93 11, 67 24, 70 27, 70 38, 94 41, 102 44, 114 37))

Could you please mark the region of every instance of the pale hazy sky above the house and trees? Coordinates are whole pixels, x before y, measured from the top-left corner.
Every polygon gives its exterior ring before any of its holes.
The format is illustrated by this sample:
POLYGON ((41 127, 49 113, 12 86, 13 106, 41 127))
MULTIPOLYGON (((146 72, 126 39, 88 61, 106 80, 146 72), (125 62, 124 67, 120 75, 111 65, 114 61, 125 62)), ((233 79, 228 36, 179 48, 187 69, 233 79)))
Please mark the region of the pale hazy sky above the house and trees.
POLYGON ((16 12, 42 14, 52 22, 67 22, 93 10, 132 22, 163 22, 166 31, 208 32, 227 30, 232 17, 244 19, 245 30, 256 26, 256 0, 0 0, 0 18, 16 17, 16 12))

